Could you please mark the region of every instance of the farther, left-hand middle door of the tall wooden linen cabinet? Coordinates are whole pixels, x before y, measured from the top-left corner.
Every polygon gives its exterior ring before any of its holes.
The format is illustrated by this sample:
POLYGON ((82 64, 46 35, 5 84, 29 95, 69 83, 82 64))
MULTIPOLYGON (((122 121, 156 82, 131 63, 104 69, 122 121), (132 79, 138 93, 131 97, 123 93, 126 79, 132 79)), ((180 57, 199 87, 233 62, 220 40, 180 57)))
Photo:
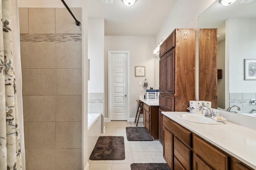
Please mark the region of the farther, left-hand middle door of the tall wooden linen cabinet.
POLYGON ((163 56, 159 61, 159 92, 164 92, 165 90, 165 75, 166 75, 166 57, 163 56))

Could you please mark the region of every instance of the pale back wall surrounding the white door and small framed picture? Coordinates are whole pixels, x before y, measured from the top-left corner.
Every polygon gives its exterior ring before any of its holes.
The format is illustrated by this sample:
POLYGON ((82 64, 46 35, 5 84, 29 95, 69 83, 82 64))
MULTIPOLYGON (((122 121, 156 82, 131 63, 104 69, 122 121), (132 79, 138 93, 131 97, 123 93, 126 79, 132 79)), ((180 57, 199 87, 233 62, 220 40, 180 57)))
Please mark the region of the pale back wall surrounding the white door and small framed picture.
MULTIPOLYGON (((144 96, 139 81, 143 82, 145 77, 134 77, 134 66, 146 66, 146 78, 149 80, 148 88, 154 87, 154 36, 105 36, 104 57, 104 101, 105 117, 108 115, 108 51, 130 51, 130 117, 135 117, 136 100, 144 96)), ((155 87, 154 87, 155 88, 155 87)), ((128 94, 129 95, 129 94, 128 94)))

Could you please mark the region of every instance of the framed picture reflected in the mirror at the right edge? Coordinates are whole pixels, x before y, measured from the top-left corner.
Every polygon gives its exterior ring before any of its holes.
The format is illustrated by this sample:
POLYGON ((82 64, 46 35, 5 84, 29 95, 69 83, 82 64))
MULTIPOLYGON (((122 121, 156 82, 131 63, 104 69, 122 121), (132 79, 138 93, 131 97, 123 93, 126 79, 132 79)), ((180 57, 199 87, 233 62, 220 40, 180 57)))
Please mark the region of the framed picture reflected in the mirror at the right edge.
POLYGON ((256 59, 244 59, 244 80, 256 80, 256 59))

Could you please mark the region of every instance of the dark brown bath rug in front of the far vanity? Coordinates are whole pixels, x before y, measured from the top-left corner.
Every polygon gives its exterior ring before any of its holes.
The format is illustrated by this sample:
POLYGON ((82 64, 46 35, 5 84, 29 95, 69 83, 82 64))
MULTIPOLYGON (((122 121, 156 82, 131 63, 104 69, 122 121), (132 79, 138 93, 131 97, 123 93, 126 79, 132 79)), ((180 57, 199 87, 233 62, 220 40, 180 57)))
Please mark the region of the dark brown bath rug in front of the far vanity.
POLYGON ((153 141, 145 127, 126 127, 128 141, 153 141))

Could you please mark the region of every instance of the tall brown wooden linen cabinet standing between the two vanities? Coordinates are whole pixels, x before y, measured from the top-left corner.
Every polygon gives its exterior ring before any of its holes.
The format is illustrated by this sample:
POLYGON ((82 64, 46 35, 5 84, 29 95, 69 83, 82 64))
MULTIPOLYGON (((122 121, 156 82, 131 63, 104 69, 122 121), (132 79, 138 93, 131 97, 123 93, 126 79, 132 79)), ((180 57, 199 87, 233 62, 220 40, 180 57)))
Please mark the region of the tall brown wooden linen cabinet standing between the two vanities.
POLYGON ((159 141, 163 142, 161 111, 187 111, 195 100, 196 30, 175 29, 159 51, 159 141))

